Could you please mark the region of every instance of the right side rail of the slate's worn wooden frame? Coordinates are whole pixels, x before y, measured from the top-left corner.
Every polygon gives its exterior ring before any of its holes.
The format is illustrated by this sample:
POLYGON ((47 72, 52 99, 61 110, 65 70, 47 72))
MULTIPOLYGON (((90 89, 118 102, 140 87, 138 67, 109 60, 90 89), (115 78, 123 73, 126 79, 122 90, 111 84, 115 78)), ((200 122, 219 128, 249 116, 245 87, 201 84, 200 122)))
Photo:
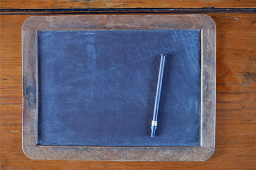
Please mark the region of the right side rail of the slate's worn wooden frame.
POLYGON ((201 146, 215 146, 216 29, 201 30, 201 146))

